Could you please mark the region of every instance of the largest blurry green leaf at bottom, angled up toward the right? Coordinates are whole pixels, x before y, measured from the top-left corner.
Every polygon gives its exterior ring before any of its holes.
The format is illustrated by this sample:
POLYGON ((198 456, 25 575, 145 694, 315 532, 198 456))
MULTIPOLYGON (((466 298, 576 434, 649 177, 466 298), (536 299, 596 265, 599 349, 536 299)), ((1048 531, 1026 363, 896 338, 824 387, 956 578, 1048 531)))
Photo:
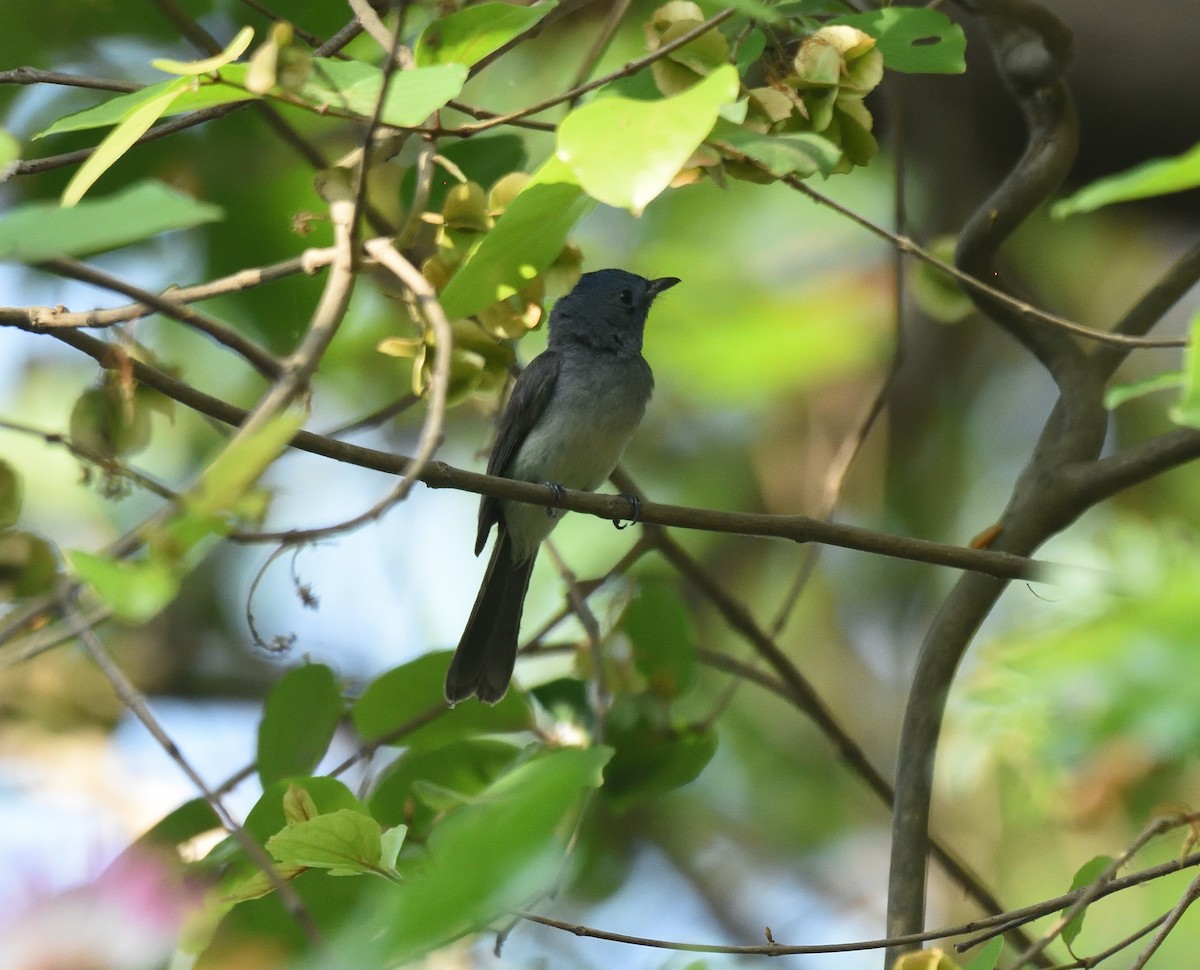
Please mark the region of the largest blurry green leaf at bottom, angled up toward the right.
POLYGON ((402 881, 377 900, 365 924, 378 935, 341 940, 356 959, 338 964, 406 964, 538 898, 560 875, 583 792, 600 784, 608 755, 602 748, 546 752, 446 815, 426 840, 426 856, 402 862, 402 881))

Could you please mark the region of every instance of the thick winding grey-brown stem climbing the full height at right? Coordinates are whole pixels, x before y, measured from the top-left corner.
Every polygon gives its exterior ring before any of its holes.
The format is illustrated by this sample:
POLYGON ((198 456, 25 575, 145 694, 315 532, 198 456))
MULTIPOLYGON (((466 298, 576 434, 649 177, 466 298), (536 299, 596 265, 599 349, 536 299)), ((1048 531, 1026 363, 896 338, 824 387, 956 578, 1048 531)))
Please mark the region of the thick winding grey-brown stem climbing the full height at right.
MULTIPOLYGON (((980 0, 997 65, 1021 106, 1030 142, 1020 161, 968 220, 956 263, 976 279, 991 279, 1001 245, 1060 185, 1074 160, 1076 124, 1063 82, 1069 60, 1067 29, 1030 0, 980 0)), ((1086 505, 1066 487, 1066 465, 1093 460, 1104 441, 1103 383, 1090 359, 1061 330, 1031 323, 1009 301, 972 289, 976 305, 1020 341, 1051 373, 1060 400, 1001 520, 997 549, 1028 555, 1069 525, 1086 505)), ((934 761, 950 684, 959 663, 1007 583, 962 576, 922 645, 905 709, 896 762, 888 882, 888 934, 924 924, 929 814, 934 761)), ((889 965, 905 950, 893 947, 889 965)), ((1044 957, 1038 960, 1045 963, 1044 957)))

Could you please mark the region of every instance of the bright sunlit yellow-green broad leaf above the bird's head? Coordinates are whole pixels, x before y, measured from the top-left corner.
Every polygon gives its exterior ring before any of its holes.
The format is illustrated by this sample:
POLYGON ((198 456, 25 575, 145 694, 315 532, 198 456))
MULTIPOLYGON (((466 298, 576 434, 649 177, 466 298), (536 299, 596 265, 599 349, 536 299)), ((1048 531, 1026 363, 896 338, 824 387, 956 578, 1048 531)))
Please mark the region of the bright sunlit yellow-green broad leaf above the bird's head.
POLYGON ((595 199, 641 214, 679 174, 738 96, 738 72, 722 65, 661 101, 596 98, 558 126, 558 157, 595 199))

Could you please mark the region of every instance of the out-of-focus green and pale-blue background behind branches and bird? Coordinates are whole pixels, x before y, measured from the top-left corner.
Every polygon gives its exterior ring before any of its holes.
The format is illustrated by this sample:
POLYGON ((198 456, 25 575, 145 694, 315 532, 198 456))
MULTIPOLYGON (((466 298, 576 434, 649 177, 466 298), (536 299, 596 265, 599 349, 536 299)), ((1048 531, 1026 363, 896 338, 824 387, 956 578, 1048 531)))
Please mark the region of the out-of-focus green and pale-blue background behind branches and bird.
MULTIPOLYGON (((0 68, 28 64, 144 83, 157 79, 148 67, 151 58, 196 56, 152 4, 43 0, 20 6, 19 16, 5 18, 0 68)), ((179 0, 178 6, 217 37, 232 36, 244 23, 266 26, 233 0, 179 0)), ((414 28, 432 17, 434 6, 412 5, 414 28)), ((502 58, 468 83, 463 100, 504 112, 547 89, 569 86, 604 6, 565 18, 502 58)), ((656 6, 642 0, 630 5, 596 73, 644 53, 642 24, 656 6)), ((719 5, 702 6, 712 12, 719 5)), ((1075 185, 1194 143, 1195 118, 1178 110, 1200 98, 1200 76, 1178 70, 1190 55, 1190 0, 1147 0, 1106 8, 1103 16, 1085 0, 1046 0, 1046 6, 1076 32, 1073 86, 1082 145, 1075 185)), ((343 5, 328 0, 290 0, 280 13, 320 38, 348 17, 343 5)), ((896 186, 902 186, 910 232, 922 240, 953 233, 985 197, 1019 152, 1022 131, 985 46, 972 24, 965 26, 966 74, 889 73, 869 101, 882 154, 853 174, 815 179, 820 191, 890 224, 896 186)), ((371 44, 360 37, 348 53, 373 58, 371 44)), ((54 136, 52 144, 29 139, 53 119, 98 100, 97 92, 71 88, 5 85, 0 115, 34 151, 67 151, 94 144, 95 133, 54 136)), ((281 114, 329 158, 354 148, 348 126, 294 109, 281 114)), ((486 173, 479 176, 484 185, 514 167, 533 170, 552 150, 545 133, 517 131, 503 138, 456 149, 461 164, 486 173), (474 160, 466 157, 472 151, 478 151, 474 160)), ((377 172, 372 202, 388 216, 402 209, 406 163, 410 160, 401 156, 377 172)), ((0 202, 54 199, 71 173, 64 168, 8 181, 0 186, 0 202)), ((253 110, 139 146, 104 175, 102 187, 109 192, 146 176, 226 214, 223 221, 92 261, 148 289, 329 245, 311 167, 253 110)), ((1194 239, 1194 196, 1066 221, 1037 217, 1006 257, 1036 303, 1105 327, 1194 239)), ((439 204, 434 196, 432 206, 439 204)), ((600 206, 572 239, 586 270, 619 265, 684 281, 656 305, 650 321, 646 355, 658 391, 624 461, 655 501, 820 514, 838 449, 856 432, 895 364, 888 408, 850 471, 838 516, 965 544, 998 515, 1052 405, 1045 373, 978 318, 935 322, 907 287, 898 330, 893 253, 782 185, 731 180, 720 187, 702 180, 666 192, 641 218, 600 206)), ((13 305, 76 310, 118 303, 36 269, 4 267, 0 274, 2 299, 13 305)), ((912 276, 908 264, 906 281, 912 276)), ((204 309, 272 351, 284 351, 300 337, 322 283, 319 275, 292 276, 204 309)), ((413 336, 402 305, 386 291, 386 285, 358 289, 316 379, 308 426, 341 426, 408 390, 408 361, 374 349, 386 337, 413 336)), ((1190 306, 1184 301, 1159 333, 1184 333, 1194 305, 1194 299, 1190 306)), ((230 364, 229 354, 170 322, 150 319, 130 331, 163 366, 228 401, 250 406, 263 387, 251 369, 230 364)), ((518 357, 528 360, 544 340, 541 330, 530 333, 520 342, 518 357)), ((1139 352, 1118 381, 1177 366, 1175 352, 1139 352)), ((76 400, 94 381, 89 360, 44 337, 0 330, 6 418, 64 432, 76 400)), ((439 457, 480 467, 496 406, 492 394, 454 408, 439 457)), ((1162 431, 1168 425, 1164 409, 1159 397, 1121 408, 1112 423, 1114 443, 1162 431)), ((410 409, 353 439, 410 454, 420 420, 420 408, 410 409)), ((182 407, 154 414, 151 423, 151 442, 136 465, 176 486, 190 481, 222 441, 206 419, 182 407)), ((98 547, 157 505, 157 498, 136 487, 120 499, 104 495, 97 477, 82 474, 79 462, 55 443, 0 430, 0 449, 23 477, 22 528, 58 547, 98 547)), ((379 475, 307 455, 283 457, 266 484, 275 496, 270 523, 280 528, 348 517, 389 485, 379 475)), ((1196 469, 1183 467, 1090 513, 1054 540, 1044 557, 1105 570, 1118 577, 1117 588, 1082 585, 1078 577, 1051 586, 1015 585, 968 655, 940 759, 936 827, 1008 905, 1066 891, 1079 866, 1098 854, 1118 852, 1164 806, 1196 804, 1198 493, 1196 469)), ((251 606, 266 635, 295 634, 282 655, 254 648, 248 635, 247 591, 266 556, 256 546, 216 550, 161 616, 140 627, 109 624, 104 637, 215 784, 254 758, 260 699, 288 667, 304 660, 328 664, 353 694, 389 667, 449 648, 480 568, 469 556, 473 532, 472 496, 419 489, 376 526, 306 549, 290 565, 287 558, 275 563, 251 606), (316 610, 301 604, 298 583, 319 599, 316 610)), ((554 544, 577 575, 590 576, 619 558, 629 534, 572 516, 556 532, 554 544)), ((805 549, 700 533, 678 539, 760 625, 769 629, 779 618, 782 648, 888 774, 910 666, 953 576, 934 567, 826 549, 794 609, 781 613, 805 549)), ((749 647, 712 605, 654 557, 638 564, 631 581, 601 594, 601 618, 618 616, 635 588, 644 593, 664 581, 686 605, 686 635, 695 647, 750 659, 749 647), (640 580, 646 585, 637 587, 640 580)), ((560 581, 544 557, 527 631, 562 603, 560 581)), ((553 655, 530 661, 532 682, 544 667, 566 670, 553 655)), ((764 923, 780 941, 882 935, 886 808, 788 703, 752 683, 726 696, 730 685, 728 675, 701 664, 695 685, 680 699, 684 721, 720 712, 713 721, 715 754, 696 780, 629 803, 590 803, 576 875, 556 902, 556 915, 625 933, 713 942, 757 941, 764 923)), ((344 758, 352 744, 340 735, 334 754, 344 758)), ((254 803, 253 784, 234 792, 236 810, 254 803)), ((34 887, 59 887, 95 874, 128 839, 191 795, 74 648, 4 669, 0 897, 17 905, 29 900, 34 887)), ((1140 861, 1178 852, 1180 839, 1165 839, 1140 861)), ((1105 916, 1093 917, 1076 952, 1100 948, 1168 909, 1183 885, 1178 879, 1100 904, 1105 916)), ((337 899, 331 897, 329 905, 348 909, 337 899)), ((223 926, 220 953, 227 952, 228 940, 239 939, 239 928, 260 932, 269 923, 263 912, 277 903, 254 906, 223 926)), ((935 884, 932 924, 973 915, 955 887, 935 884)), ((487 947, 484 941, 475 950, 480 965, 491 965, 487 947)), ((1194 948, 1194 929, 1184 923, 1160 960, 1184 965, 1184 954, 1194 948)), ((464 952, 458 956, 466 965, 464 952)), ((268 965, 212 959, 211 965, 268 965)), ((504 960, 690 965, 653 951, 618 950, 524 926, 508 940, 504 960)), ((702 963, 733 965, 719 957, 702 963)), ((842 954, 796 965, 877 963, 877 956, 842 954)))

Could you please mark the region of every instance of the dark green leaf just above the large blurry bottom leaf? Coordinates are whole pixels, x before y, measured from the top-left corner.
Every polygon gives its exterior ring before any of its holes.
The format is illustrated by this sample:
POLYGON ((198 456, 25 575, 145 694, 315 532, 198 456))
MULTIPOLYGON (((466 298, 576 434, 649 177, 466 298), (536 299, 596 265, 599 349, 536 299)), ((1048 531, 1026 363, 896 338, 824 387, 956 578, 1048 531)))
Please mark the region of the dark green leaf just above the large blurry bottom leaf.
POLYGON ((384 768, 367 807, 382 825, 407 821, 426 832, 440 806, 431 804, 428 785, 458 792, 460 801, 478 795, 510 767, 521 748, 496 738, 472 738, 428 750, 408 750, 384 768))

